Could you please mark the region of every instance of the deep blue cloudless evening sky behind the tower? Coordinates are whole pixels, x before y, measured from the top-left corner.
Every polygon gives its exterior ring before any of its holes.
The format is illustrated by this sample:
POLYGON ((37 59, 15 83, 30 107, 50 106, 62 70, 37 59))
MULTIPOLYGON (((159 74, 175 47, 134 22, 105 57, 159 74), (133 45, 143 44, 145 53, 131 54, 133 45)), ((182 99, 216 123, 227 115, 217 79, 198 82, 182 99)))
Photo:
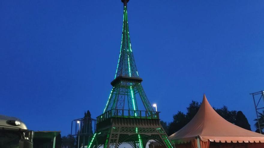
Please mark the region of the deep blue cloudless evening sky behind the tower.
MULTIPOLYGON (((214 107, 241 110, 253 128, 249 93, 264 89, 263 10, 263 0, 129 1, 137 68, 162 120, 205 93, 214 107)), ((122 19, 120 0, 1 0, 0 114, 62 135, 86 110, 100 115, 122 19)))

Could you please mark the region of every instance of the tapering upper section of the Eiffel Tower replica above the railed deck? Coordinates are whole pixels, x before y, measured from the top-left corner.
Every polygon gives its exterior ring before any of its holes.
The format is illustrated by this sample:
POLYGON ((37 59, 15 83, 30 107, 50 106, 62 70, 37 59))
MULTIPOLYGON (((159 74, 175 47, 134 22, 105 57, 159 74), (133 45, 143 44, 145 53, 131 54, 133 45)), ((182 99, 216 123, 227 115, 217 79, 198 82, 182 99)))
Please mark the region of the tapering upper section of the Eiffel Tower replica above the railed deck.
POLYGON ((111 82, 113 89, 104 112, 111 109, 128 109, 131 110, 131 115, 137 116, 139 114, 137 101, 139 100, 136 99, 136 96, 140 98, 146 111, 154 110, 141 86, 142 78, 139 77, 132 52, 128 28, 128 0, 122 0, 122 2, 124 3, 122 41, 115 78, 111 82))

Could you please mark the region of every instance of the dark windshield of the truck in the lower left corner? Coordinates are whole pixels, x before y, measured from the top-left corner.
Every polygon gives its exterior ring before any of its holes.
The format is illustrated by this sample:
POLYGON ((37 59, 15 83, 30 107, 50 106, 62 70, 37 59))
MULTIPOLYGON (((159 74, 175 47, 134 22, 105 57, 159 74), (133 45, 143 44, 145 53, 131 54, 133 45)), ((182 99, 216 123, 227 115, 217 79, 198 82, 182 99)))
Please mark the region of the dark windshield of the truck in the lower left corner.
POLYGON ((18 148, 21 134, 14 131, 0 131, 0 147, 1 148, 18 148))

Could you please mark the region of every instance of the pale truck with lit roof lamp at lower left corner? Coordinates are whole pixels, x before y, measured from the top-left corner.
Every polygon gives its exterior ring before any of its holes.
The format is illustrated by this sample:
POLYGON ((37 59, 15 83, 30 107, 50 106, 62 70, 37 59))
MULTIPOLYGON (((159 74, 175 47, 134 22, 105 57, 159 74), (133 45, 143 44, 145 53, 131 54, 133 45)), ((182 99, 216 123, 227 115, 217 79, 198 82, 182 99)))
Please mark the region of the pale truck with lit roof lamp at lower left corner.
POLYGON ((18 118, 0 115, 0 148, 33 148, 33 136, 18 118))

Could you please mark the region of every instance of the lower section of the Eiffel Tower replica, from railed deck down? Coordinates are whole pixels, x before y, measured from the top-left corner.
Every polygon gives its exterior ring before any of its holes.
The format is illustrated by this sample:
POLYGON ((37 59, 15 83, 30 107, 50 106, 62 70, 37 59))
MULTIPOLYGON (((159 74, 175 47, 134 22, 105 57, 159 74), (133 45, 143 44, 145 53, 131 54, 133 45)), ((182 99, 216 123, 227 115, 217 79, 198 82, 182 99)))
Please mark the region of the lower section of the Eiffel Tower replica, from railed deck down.
POLYGON ((104 148, 118 148, 124 142, 133 148, 145 148, 151 139, 173 148, 161 126, 159 112, 137 111, 139 115, 136 117, 129 115, 132 112, 134 110, 113 109, 98 116, 97 132, 88 148, 102 145, 104 148))

